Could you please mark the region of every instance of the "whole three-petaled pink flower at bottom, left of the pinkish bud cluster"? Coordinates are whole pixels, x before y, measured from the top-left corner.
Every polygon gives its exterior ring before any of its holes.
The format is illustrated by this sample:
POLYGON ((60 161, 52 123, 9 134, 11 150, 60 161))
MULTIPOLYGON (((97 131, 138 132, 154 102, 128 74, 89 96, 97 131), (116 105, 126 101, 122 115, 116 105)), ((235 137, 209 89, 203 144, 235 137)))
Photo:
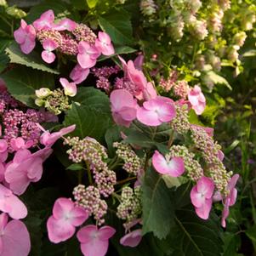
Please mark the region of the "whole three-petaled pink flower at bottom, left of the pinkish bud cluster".
POLYGON ((47 230, 50 242, 63 242, 76 232, 76 227, 88 219, 84 208, 77 207, 68 198, 61 197, 54 202, 53 215, 48 218, 47 230))

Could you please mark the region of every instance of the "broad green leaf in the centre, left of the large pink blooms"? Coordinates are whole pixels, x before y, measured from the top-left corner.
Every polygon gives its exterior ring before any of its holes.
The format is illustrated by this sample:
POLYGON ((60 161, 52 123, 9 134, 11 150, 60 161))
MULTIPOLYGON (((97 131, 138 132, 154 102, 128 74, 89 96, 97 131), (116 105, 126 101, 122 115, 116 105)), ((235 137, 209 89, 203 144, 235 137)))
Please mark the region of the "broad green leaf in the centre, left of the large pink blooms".
POLYGON ((111 126, 111 114, 95 109, 90 105, 73 104, 70 111, 66 112, 64 125, 76 124, 72 136, 84 138, 93 137, 100 142, 104 141, 105 131, 111 126))

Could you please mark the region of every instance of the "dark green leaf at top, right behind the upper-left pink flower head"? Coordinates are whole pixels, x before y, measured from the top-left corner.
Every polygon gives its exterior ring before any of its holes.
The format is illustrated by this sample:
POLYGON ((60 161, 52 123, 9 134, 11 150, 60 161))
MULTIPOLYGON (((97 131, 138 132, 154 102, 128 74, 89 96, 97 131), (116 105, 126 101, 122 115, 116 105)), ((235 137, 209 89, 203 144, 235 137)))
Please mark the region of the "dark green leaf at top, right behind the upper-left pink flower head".
POLYGON ((99 24, 101 29, 110 35, 113 43, 118 45, 134 43, 130 15, 125 10, 100 16, 99 24))

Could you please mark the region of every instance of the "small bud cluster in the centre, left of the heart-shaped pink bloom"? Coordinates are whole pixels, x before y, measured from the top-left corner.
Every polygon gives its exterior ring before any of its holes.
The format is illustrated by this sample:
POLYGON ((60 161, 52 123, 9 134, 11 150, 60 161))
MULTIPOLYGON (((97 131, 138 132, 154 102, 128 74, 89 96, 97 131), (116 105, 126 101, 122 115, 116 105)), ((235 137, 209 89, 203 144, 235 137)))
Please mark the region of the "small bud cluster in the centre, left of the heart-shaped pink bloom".
POLYGON ((122 142, 115 142, 113 146, 117 148, 117 156, 124 162, 122 168, 126 170, 128 174, 137 176, 143 167, 139 156, 132 150, 132 147, 122 142))

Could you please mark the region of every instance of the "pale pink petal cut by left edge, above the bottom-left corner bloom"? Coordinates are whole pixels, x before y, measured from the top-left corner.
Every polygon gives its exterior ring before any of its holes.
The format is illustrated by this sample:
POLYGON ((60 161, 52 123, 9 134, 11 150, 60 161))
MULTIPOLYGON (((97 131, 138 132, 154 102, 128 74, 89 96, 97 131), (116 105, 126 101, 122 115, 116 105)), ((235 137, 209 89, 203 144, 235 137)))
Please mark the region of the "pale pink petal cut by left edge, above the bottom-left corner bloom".
POLYGON ((0 184, 0 210, 9 213, 13 219, 24 219, 27 215, 25 204, 2 184, 0 184))

